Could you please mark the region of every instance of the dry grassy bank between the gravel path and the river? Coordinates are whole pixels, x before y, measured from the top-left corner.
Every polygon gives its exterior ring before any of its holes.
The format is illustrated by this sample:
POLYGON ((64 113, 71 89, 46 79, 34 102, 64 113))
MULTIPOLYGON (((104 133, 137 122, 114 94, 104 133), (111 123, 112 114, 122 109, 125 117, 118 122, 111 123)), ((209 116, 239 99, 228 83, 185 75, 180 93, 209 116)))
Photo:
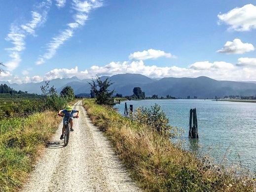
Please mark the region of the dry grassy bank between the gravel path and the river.
POLYGON ((150 192, 252 192, 255 182, 247 176, 199 160, 195 154, 181 150, 166 136, 114 109, 85 99, 92 122, 110 138, 118 157, 132 177, 150 192))

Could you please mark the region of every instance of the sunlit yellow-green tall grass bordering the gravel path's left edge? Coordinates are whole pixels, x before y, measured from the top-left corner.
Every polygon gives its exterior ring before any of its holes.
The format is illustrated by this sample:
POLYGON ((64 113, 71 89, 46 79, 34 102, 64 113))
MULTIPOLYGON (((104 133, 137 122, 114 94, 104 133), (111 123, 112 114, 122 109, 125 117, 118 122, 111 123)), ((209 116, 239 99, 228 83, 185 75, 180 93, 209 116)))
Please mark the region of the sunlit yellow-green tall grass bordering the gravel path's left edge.
POLYGON ((33 162, 58 127, 54 112, 0 121, 0 192, 16 191, 32 170, 33 162))

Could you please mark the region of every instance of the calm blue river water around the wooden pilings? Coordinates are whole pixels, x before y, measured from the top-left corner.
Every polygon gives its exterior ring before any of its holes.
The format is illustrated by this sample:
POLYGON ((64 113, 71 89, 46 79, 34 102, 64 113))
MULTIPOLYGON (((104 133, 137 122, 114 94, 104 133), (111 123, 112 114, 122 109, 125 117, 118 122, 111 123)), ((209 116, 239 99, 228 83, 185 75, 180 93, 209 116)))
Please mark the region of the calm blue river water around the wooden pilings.
MULTIPOLYGON (((256 167, 256 103, 200 99, 127 101, 134 108, 157 103, 169 118, 170 125, 183 128, 184 148, 208 153, 216 161, 242 162, 253 172, 256 167), (188 139, 189 110, 197 109, 198 141, 188 139), (239 155, 238 155, 239 154, 239 155), (240 157, 240 158, 239 158, 240 157)), ((124 102, 117 104, 124 113, 124 102)))

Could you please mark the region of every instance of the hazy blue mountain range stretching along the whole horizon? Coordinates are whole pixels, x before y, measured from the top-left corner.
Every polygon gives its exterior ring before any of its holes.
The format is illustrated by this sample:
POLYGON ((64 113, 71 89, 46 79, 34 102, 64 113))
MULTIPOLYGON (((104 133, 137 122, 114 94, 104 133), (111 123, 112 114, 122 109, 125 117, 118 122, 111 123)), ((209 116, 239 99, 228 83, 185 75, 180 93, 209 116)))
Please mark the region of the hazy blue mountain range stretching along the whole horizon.
MULTIPOLYGON (((108 76, 102 76, 101 79, 105 80, 108 76)), ((215 98, 215 96, 223 97, 229 95, 243 95, 255 96, 256 95, 256 82, 236 82, 236 81, 218 81, 209 77, 201 76, 197 78, 174 78, 164 77, 162 79, 151 79, 141 74, 117 74, 109 77, 113 83, 110 89, 114 89, 116 93, 123 96, 132 95, 134 87, 141 87, 146 96, 175 96, 186 98, 187 96, 197 96, 198 98, 215 98)), ((58 92, 65 86, 71 86, 74 93, 85 94, 90 93, 91 79, 80 80, 76 77, 53 79, 50 85, 54 85, 58 92)), ((27 91, 28 93, 40 94, 40 83, 27 83, 27 84, 9 84, 8 86, 15 90, 27 91)))

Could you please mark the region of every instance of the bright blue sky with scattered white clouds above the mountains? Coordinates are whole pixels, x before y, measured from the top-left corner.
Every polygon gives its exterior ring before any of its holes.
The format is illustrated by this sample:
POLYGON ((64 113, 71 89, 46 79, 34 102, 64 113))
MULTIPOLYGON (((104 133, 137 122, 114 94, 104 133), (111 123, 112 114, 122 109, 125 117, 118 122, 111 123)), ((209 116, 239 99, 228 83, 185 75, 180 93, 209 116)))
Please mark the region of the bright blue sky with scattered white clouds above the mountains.
POLYGON ((254 3, 0 0, 0 81, 127 72, 255 81, 254 3))

